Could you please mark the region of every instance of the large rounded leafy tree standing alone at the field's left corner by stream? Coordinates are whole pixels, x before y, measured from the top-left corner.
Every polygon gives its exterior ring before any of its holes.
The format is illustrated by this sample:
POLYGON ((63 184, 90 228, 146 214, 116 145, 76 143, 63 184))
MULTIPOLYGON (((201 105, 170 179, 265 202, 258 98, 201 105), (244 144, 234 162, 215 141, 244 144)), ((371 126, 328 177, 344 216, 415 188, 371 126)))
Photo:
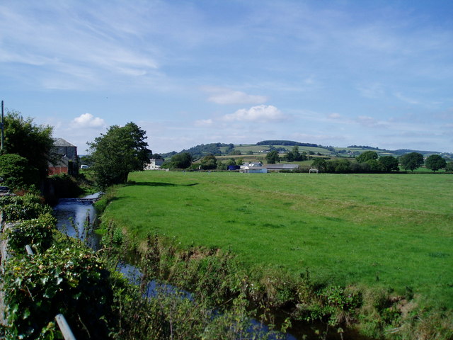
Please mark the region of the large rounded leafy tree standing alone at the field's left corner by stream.
POLYGON ((105 135, 90 143, 93 173, 101 188, 126 183, 132 171, 141 171, 149 162, 146 132, 135 123, 113 125, 105 135))

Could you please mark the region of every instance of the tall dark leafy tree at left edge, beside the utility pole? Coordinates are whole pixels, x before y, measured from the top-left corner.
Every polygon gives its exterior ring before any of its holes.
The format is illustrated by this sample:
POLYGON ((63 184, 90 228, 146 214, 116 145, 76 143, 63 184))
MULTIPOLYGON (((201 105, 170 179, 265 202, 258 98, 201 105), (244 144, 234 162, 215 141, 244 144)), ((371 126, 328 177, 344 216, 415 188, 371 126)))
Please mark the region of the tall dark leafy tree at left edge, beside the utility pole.
POLYGON ((9 111, 4 119, 4 132, 4 154, 25 157, 30 166, 38 169, 39 179, 45 179, 52 161, 52 127, 35 125, 33 118, 23 118, 18 111, 9 111))

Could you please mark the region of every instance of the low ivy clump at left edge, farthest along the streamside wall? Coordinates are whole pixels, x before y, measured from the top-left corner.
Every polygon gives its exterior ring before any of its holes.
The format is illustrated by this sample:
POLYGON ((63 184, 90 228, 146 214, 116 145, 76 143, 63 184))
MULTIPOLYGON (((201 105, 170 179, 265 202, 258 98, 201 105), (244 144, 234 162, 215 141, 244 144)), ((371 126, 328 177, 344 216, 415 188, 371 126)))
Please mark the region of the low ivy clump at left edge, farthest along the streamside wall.
POLYGON ((3 210, 4 220, 18 221, 38 218, 39 215, 51 213, 52 208, 42 203, 42 198, 33 194, 25 196, 4 196, 0 198, 0 207, 3 210))

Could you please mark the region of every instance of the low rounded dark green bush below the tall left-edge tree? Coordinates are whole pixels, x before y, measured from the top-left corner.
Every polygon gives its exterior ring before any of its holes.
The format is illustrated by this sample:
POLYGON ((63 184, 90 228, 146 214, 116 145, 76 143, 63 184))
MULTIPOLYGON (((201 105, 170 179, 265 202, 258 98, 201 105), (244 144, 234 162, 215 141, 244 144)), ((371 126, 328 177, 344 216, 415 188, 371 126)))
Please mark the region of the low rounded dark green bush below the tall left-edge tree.
POLYGON ((0 155, 0 177, 4 179, 2 184, 11 189, 29 188, 39 183, 38 169, 18 154, 0 155))

